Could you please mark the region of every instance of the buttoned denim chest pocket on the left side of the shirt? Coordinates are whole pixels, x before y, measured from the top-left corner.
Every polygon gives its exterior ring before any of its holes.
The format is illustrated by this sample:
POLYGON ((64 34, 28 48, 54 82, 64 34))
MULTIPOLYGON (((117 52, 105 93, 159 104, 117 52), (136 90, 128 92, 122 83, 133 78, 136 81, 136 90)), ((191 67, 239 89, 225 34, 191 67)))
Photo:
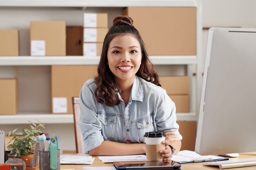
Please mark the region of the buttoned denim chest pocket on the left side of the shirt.
POLYGON ((101 121, 101 133, 104 140, 115 138, 116 115, 98 112, 98 119, 101 121))

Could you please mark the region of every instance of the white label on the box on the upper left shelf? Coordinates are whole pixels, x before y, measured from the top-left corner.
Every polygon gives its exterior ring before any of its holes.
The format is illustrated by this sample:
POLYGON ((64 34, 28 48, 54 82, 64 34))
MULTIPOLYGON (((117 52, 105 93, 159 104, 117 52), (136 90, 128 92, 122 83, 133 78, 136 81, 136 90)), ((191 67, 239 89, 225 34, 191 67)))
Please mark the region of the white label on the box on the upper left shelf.
POLYGON ((45 40, 31 40, 31 56, 45 56, 45 40))

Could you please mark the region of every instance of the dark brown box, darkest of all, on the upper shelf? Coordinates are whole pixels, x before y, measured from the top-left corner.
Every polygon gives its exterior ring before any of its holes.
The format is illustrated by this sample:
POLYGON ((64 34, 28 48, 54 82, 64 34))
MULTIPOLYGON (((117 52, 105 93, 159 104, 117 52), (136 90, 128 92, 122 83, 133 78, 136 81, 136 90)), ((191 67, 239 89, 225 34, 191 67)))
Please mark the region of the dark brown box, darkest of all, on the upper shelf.
POLYGON ((83 55, 83 26, 66 27, 66 54, 83 55))

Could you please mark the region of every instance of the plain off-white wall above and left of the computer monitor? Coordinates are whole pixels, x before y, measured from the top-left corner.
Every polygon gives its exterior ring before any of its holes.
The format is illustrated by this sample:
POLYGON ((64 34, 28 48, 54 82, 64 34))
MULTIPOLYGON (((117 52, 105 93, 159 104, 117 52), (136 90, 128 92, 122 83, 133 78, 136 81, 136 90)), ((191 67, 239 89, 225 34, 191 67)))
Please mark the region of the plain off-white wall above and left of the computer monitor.
MULTIPOLYGON (((256 28, 256 0, 202 0, 202 26, 256 28)), ((208 30, 203 30, 203 63, 208 30)))

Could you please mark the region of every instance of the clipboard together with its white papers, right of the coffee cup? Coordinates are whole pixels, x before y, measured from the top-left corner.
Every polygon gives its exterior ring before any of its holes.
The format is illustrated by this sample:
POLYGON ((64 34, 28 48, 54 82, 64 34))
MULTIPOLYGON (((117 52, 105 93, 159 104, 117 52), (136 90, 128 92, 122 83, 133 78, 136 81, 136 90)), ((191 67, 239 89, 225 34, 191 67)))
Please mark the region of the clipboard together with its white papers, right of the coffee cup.
POLYGON ((202 156, 190 150, 182 150, 178 152, 176 155, 173 155, 171 160, 177 163, 197 163, 197 162, 207 162, 207 161, 222 161, 222 160, 229 160, 229 159, 225 157, 217 157, 213 155, 202 156))

